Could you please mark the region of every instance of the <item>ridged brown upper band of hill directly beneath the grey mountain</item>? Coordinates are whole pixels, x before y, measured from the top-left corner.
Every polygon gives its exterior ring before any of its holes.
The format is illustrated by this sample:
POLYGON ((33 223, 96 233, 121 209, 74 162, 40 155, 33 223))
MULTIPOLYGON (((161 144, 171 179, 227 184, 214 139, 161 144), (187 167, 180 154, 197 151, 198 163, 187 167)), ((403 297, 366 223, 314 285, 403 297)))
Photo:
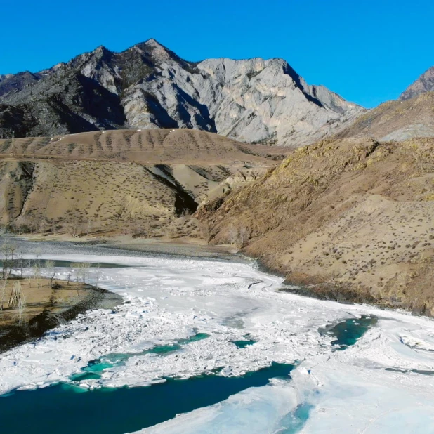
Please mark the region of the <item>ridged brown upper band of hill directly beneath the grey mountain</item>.
POLYGON ((282 150, 188 129, 91 131, 0 140, 0 157, 98 159, 145 164, 261 163, 282 150))

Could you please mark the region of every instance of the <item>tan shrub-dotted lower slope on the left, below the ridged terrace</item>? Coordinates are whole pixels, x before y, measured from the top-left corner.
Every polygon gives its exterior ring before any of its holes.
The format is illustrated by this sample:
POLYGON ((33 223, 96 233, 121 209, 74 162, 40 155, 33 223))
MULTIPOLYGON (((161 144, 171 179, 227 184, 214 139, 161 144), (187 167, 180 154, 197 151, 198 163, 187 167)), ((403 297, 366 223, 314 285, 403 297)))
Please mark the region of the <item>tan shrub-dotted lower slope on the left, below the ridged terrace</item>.
POLYGON ((135 163, 36 161, 31 185, 11 182, 22 176, 21 162, 0 162, 3 224, 26 230, 150 232, 162 228, 195 202, 182 189, 135 163), (12 198, 16 199, 13 201, 12 198))

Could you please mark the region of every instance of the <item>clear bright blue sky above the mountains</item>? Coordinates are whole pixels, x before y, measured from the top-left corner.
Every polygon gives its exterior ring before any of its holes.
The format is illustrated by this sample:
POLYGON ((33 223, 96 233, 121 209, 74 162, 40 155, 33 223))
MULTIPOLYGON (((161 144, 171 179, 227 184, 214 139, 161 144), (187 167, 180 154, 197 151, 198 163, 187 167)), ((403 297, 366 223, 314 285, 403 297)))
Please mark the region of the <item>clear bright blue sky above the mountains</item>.
POLYGON ((373 107, 434 65, 433 0, 4 0, 1 16, 0 74, 155 38, 186 60, 284 58, 373 107))

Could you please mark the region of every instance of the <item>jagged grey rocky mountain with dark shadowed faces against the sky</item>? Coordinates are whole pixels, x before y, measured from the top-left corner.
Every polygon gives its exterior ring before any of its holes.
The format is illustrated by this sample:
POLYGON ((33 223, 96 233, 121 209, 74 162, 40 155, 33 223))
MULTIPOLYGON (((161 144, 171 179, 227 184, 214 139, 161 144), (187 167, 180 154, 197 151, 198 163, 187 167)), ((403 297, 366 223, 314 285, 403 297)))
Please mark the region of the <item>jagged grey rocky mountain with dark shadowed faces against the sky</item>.
POLYGON ((0 127, 15 136, 188 128, 298 147, 340 131, 363 111, 324 86, 309 86, 285 60, 192 63, 154 39, 0 77, 0 127))

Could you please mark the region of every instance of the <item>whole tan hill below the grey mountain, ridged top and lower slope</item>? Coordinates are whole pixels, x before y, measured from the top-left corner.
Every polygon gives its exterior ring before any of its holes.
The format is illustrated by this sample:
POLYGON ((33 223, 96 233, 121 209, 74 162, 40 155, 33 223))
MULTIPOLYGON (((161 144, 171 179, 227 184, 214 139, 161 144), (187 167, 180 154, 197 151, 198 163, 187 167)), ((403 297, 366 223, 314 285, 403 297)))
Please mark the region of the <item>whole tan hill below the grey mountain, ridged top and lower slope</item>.
POLYGON ((187 130, 106 131, 0 140, 0 220, 74 234, 196 233, 195 211, 244 165, 276 164, 255 147, 187 130))

